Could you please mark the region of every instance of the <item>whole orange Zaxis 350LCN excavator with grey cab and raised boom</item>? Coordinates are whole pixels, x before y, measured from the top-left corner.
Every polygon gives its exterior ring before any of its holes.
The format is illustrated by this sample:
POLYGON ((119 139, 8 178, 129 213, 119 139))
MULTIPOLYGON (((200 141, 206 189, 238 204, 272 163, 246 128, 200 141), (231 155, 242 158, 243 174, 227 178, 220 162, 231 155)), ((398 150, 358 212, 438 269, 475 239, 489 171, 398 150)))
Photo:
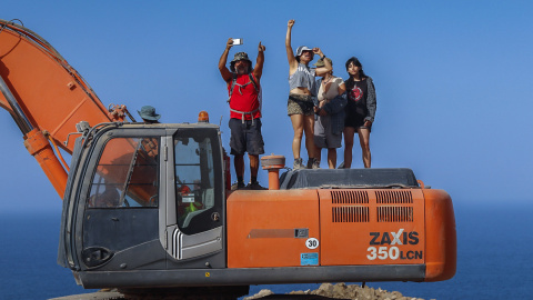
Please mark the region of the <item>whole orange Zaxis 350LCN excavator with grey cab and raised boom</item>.
POLYGON ((0 89, 63 199, 58 263, 84 288, 235 297, 250 284, 455 273, 452 200, 410 169, 279 176, 284 158, 270 156, 269 190, 230 191, 220 128, 205 112, 198 123, 135 122, 124 106, 104 107, 43 38, 4 20, 0 89))

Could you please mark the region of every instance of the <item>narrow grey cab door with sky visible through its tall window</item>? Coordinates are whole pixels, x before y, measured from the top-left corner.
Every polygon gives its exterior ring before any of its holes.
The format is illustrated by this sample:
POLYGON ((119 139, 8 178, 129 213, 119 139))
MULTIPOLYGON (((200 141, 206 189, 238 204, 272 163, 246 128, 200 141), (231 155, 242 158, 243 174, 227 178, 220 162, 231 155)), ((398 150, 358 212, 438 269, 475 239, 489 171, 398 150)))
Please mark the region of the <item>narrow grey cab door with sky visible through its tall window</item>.
POLYGON ((225 268, 222 148, 215 128, 180 128, 167 138, 165 240, 169 269, 225 268), (170 200, 172 199, 172 200, 170 200))

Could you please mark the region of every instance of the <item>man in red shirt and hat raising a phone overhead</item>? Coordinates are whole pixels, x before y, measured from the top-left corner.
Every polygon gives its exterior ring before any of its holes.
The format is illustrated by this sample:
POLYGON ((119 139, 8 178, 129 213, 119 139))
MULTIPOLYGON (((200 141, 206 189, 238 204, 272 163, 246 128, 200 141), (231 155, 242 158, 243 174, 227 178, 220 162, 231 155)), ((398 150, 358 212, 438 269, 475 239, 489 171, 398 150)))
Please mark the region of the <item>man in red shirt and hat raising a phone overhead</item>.
POLYGON ((259 42, 258 59, 252 70, 252 61, 245 52, 235 53, 230 63, 230 70, 225 67, 228 54, 233 47, 233 39, 229 39, 225 50, 219 61, 219 70, 222 79, 228 84, 230 94, 230 148, 235 166, 237 183, 231 189, 244 188, 244 152, 250 159, 251 180, 249 189, 264 189, 258 182, 259 156, 264 153, 264 142, 261 134, 261 74, 265 47, 259 42))

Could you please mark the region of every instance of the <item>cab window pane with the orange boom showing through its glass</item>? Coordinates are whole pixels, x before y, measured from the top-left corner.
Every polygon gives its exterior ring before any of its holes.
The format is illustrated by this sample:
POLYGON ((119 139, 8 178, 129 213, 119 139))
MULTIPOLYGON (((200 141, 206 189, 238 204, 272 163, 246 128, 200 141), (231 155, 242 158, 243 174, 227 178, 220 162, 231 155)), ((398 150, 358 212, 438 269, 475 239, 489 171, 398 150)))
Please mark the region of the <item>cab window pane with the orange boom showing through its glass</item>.
POLYGON ((158 207, 158 139, 109 140, 92 179, 88 207, 158 207))

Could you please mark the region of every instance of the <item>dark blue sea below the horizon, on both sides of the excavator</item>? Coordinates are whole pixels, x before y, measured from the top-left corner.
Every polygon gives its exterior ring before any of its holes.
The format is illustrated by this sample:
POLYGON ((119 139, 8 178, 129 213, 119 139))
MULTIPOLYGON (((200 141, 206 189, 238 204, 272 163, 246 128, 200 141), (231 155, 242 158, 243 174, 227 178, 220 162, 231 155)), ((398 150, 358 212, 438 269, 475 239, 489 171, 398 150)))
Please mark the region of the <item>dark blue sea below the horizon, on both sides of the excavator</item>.
MULTIPOLYGON (((457 271, 443 282, 366 282, 422 299, 532 299, 533 203, 454 203, 457 271)), ((0 299, 50 299, 91 292, 57 264, 61 212, 0 211, 0 299)), ((361 282, 346 282, 361 284, 361 282)), ((250 293, 320 284, 252 286, 250 293)))

